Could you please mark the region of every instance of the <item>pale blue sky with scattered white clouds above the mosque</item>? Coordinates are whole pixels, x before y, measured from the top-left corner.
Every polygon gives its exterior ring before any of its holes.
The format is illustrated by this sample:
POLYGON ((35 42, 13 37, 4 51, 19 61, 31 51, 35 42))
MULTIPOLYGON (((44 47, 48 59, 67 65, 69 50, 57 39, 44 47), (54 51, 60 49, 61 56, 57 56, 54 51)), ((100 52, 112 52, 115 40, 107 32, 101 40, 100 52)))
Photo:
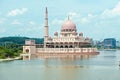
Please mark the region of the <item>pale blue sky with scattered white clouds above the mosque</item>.
POLYGON ((120 0, 0 0, 0 37, 43 38, 45 7, 52 37, 70 16, 85 37, 120 40, 120 0))

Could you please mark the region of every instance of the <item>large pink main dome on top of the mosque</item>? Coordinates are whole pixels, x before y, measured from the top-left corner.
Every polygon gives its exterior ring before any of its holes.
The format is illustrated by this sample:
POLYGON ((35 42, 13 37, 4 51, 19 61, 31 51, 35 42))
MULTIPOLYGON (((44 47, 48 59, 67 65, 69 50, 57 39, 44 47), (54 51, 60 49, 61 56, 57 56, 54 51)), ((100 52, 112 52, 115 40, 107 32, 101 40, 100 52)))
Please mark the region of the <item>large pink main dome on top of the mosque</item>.
POLYGON ((71 20, 67 20, 67 21, 63 22, 61 30, 76 31, 76 25, 71 20))

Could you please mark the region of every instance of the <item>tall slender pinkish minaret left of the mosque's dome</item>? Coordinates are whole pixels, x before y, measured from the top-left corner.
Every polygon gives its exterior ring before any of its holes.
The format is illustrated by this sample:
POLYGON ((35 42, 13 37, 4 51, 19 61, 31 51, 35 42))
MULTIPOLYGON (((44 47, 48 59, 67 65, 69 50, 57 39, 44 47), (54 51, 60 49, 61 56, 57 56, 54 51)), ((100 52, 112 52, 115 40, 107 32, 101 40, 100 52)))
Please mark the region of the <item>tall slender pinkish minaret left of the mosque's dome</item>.
POLYGON ((49 32, 48 32, 48 10, 47 10, 47 7, 46 7, 46 10, 45 10, 45 33, 44 33, 44 47, 46 47, 46 42, 47 42, 47 39, 49 37, 49 32))

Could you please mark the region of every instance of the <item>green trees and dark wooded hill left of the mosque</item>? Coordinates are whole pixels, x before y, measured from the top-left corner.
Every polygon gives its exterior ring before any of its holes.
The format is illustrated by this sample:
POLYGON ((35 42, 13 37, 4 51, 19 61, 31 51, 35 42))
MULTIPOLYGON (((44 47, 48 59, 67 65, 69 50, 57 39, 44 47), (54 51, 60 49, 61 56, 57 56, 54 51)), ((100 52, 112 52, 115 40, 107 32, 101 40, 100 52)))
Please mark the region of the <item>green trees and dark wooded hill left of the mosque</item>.
POLYGON ((26 39, 35 40, 36 44, 43 44, 44 42, 43 38, 2 37, 0 38, 0 59, 19 56, 26 39))

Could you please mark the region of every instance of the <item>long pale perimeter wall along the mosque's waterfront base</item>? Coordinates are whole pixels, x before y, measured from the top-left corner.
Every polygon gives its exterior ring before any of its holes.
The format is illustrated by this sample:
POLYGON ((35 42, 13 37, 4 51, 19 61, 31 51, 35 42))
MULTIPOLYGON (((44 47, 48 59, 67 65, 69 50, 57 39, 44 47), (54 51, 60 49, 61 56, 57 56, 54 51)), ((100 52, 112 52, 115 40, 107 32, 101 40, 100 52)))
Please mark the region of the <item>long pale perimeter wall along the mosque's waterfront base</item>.
POLYGON ((36 48, 37 53, 92 53, 96 48, 36 48))

